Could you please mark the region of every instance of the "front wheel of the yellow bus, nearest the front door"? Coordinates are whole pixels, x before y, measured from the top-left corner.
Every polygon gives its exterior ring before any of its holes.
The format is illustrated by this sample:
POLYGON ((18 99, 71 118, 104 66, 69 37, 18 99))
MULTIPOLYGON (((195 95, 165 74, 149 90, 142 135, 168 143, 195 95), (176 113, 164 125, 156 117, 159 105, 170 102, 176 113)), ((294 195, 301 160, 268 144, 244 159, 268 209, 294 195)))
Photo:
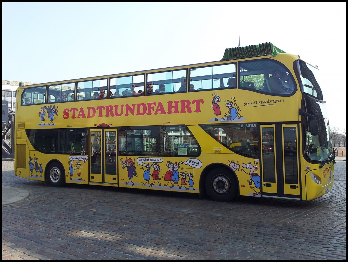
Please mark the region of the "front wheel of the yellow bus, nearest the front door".
POLYGON ((213 200, 228 202, 237 195, 237 180, 226 168, 215 168, 208 173, 205 188, 213 200))

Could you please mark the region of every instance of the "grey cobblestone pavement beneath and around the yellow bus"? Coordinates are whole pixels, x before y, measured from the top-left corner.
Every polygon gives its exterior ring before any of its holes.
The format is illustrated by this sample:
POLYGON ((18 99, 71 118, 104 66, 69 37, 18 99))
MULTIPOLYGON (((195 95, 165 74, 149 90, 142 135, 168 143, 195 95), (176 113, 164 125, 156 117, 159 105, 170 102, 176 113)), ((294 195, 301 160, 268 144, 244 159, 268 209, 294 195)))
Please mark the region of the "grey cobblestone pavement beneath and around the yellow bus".
POLYGON ((192 194, 103 186, 47 186, 14 176, 2 185, 28 198, 2 206, 3 260, 345 260, 346 162, 333 189, 312 201, 192 194))

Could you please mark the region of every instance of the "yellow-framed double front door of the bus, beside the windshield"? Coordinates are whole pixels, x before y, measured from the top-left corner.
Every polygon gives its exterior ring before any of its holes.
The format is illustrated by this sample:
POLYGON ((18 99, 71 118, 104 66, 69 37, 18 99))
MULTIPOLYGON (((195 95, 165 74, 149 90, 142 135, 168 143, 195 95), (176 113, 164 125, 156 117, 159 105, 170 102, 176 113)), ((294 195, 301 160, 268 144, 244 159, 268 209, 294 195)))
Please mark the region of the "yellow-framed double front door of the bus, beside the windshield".
POLYGON ((261 125, 262 196, 301 199, 298 125, 261 125))

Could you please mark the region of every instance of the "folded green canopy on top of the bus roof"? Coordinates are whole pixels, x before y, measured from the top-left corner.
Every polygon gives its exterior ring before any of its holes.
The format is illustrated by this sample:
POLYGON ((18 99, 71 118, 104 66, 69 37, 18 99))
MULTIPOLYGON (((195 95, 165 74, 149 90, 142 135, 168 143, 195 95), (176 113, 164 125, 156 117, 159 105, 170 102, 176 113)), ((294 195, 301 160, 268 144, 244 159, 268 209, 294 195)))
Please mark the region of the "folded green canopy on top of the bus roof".
POLYGON ((257 56, 263 56, 263 55, 276 56, 277 54, 280 54, 280 53, 286 53, 286 52, 274 46, 272 43, 266 42, 259 45, 226 48, 221 61, 257 57, 257 56))

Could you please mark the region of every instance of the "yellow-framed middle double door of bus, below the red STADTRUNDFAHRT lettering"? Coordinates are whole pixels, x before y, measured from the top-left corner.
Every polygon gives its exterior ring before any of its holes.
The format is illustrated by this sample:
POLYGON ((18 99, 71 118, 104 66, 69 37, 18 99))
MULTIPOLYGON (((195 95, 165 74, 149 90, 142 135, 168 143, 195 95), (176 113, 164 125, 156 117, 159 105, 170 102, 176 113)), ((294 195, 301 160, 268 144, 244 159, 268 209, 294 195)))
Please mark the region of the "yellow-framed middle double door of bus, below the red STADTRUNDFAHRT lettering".
POLYGON ((89 182, 118 184, 117 129, 90 129, 89 182))

